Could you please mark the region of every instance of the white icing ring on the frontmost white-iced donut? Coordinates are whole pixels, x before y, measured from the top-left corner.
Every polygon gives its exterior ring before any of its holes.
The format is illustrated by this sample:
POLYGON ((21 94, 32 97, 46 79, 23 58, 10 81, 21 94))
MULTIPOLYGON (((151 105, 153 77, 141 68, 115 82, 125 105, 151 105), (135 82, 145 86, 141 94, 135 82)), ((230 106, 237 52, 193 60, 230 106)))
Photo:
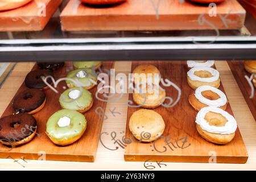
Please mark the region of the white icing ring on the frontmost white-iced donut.
POLYGON ((230 115, 225 110, 222 110, 218 107, 204 107, 197 113, 196 123, 201 127, 201 129, 208 131, 209 133, 215 134, 232 134, 237 130, 236 119, 230 115), (205 115, 209 112, 221 114, 225 117, 228 122, 225 123, 225 126, 210 126, 209 123, 205 120, 205 115))

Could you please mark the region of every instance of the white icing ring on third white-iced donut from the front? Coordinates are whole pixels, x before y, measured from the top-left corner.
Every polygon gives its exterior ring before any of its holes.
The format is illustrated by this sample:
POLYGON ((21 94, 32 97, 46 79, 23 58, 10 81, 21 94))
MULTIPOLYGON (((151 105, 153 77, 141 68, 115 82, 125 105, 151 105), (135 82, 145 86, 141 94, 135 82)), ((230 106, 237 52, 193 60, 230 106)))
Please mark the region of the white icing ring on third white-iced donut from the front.
POLYGON ((194 68, 191 68, 189 71, 188 71, 188 77, 191 79, 191 80, 194 80, 194 81, 201 81, 201 82, 213 82, 213 81, 217 81, 218 78, 220 77, 220 73, 216 70, 216 69, 213 69, 213 68, 209 68, 209 67, 194 67, 194 68), (209 77, 209 78, 202 78, 202 77, 199 77, 199 76, 196 76, 195 75, 195 72, 196 71, 208 71, 210 72, 210 74, 212 74, 212 77, 209 77))

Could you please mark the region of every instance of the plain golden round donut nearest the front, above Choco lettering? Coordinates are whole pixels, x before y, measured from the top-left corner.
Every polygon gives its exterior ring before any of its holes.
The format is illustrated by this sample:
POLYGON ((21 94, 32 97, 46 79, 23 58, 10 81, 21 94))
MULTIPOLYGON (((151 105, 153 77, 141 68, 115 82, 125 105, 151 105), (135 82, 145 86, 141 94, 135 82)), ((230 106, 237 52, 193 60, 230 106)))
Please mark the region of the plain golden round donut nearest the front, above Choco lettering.
POLYGON ((164 132, 166 125, 162 116, 154 110, 141 109, 131 115, 129 129, 142 142, 152 142, 164 132))

